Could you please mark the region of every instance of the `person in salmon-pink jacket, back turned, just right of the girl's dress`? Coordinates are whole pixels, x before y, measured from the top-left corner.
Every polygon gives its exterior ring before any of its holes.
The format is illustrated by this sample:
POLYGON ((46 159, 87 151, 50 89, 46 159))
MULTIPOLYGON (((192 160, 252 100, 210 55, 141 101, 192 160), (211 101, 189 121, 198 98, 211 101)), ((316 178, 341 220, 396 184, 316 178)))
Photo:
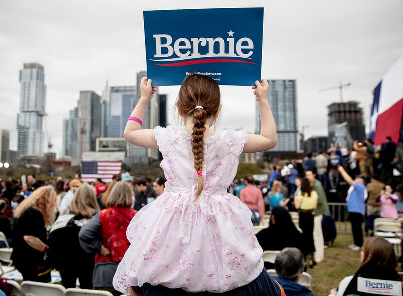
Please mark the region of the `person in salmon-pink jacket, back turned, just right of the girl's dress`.
POLYGON ((259 225, 263 215, 265 214, 265 203, 263 200, 262 191, 254 186, 253 177, 248 175, 244 179, 245 188, 239 192, 239 199, 248 206, 252 211, 253 225, 259 225))

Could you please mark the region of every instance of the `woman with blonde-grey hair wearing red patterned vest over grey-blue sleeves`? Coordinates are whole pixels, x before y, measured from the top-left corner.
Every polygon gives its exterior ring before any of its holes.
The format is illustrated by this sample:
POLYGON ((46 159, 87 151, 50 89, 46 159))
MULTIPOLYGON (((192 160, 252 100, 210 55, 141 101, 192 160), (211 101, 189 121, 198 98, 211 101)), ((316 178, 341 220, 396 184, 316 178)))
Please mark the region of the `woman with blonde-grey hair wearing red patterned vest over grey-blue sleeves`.
MULTIPOLYGON (((95 254, 92 276, 95 289, 116 293, 112 280, 130 243, 126 230, 137 213, 133 209, 133 192, 128 184, 118 181, 106 200, 108 208, 95 214, 79 233, 80 245, 85 252, 95 254)), ((121 295, 117 293, 116 295, 121 295)))

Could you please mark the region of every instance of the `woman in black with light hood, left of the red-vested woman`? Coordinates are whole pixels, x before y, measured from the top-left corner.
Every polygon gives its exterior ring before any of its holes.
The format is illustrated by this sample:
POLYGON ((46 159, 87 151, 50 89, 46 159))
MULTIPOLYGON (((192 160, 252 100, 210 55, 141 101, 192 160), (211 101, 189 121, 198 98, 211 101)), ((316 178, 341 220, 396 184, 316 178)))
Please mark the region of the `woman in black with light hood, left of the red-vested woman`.
POLYGON ((83 184, 71 201, 71 214, 60 215, 50 230, 49 261, 60 271, 65 288, 75 288, 78 278, 80 288, 92 289, 94 256, 84 252, 78 233, 99 210, 94 187, 83 184))

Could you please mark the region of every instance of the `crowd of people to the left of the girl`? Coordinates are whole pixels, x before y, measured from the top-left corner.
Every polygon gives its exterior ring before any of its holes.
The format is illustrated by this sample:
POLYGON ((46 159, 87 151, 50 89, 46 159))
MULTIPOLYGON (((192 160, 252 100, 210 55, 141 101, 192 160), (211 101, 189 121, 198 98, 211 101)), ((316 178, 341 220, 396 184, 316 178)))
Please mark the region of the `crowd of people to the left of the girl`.
POLYGON ((166 180, 129 173, 113 179, 108 184, 79 176, 42 182, 29 175, 23 184, 2 182, 0 231, 24 280, 49 282, 56 269, 66 288, 76 287, 78 279, 81 288, 120 295, 112 278, 129 247, 127 227, 136 208, 164 192, 166 180))

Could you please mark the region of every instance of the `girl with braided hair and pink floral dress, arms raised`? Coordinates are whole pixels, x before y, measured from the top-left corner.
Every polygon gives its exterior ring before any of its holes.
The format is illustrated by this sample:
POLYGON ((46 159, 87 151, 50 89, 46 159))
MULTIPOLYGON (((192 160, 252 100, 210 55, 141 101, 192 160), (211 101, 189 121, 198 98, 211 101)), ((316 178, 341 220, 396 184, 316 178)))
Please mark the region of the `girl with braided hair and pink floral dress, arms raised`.
POLYGON ((266 151, 277 143, 268 82, 256 81, 252 88, 260 109, 260 135, 211 129, 221 108, 219 87, 197 74, 185 78, 176 102, 185 127, 142 130, 141 119, 156 89, 151 80, 141 80, 141 99, 124 136, 134 145, 161 151, 167 182, 164 194, 142 208, 127 229, 131 246, 113 280, 117 290, 127 295, 232 289, 241 289, 234 295, 279 294, 263 269, 251 211, 227 193, 238 155, 266 151))

